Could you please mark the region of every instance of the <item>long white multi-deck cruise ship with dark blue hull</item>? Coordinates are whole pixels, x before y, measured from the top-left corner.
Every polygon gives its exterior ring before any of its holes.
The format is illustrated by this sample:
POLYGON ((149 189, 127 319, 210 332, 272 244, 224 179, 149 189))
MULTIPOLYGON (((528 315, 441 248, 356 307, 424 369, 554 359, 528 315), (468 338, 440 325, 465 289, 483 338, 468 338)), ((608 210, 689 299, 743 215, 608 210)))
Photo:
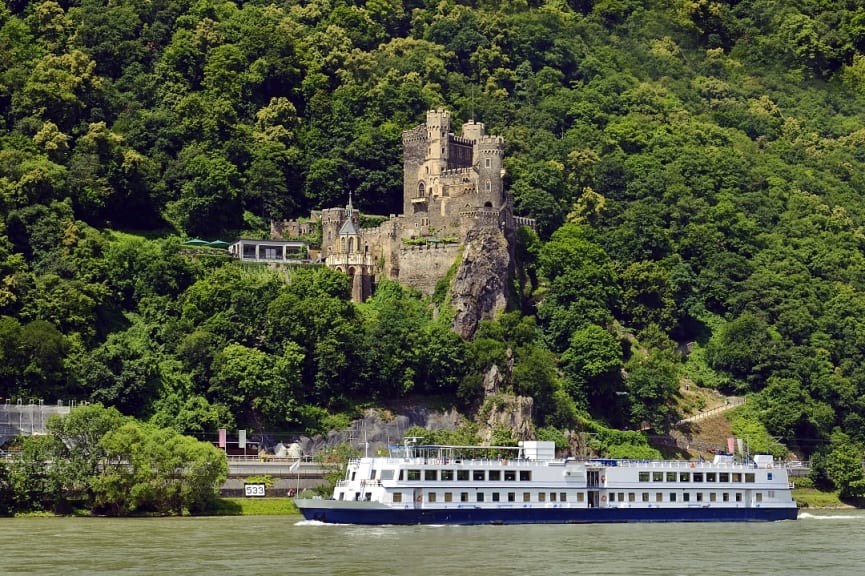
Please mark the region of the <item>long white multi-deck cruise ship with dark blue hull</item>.
POLYGON ((352 459, 330 499, 297 499, 336 524, 544 524, 795 520, 784 465, 556 458, 555 444, 431 446, 407 438, 387 456, 352 459))

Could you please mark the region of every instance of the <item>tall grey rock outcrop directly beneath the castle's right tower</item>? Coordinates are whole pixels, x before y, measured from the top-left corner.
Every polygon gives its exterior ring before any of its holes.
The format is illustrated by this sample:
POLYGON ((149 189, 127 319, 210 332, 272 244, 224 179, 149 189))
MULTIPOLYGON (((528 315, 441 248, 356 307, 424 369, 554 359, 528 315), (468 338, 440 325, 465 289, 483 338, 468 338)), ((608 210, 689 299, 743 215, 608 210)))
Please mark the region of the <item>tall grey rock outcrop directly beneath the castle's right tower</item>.
POLYGON ((505 308, 512 268, 508 242, 497 228, 469 231, 451 287, 451 304, 457 310, 454 332, 471 338, 481 320, 505 308))

